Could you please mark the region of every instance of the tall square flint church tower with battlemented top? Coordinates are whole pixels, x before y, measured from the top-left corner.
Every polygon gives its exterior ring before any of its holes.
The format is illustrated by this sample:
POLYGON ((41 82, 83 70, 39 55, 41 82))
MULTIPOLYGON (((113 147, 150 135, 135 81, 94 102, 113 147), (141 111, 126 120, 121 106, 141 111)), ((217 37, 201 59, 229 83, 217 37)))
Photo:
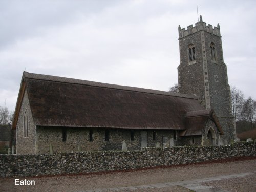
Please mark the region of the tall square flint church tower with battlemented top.
POLYGON ((232 142, 236 131, 220 25, 206 25, 200 15, 195 27, 190 25, 185 30, 179 26, 179 45, 179 93, 196 94, 205 109, 214 109, 224 132, 223 144, 232 142))

